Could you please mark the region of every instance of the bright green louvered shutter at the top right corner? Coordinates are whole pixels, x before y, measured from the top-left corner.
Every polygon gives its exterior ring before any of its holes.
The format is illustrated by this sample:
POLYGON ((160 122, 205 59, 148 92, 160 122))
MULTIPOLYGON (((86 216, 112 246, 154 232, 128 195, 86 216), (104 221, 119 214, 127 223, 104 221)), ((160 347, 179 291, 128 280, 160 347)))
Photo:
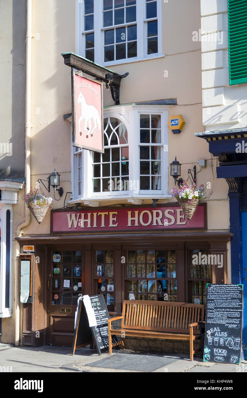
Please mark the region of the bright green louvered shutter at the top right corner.
POLYGON ((247 82, 247 0, 228 0, 230 84, 247 82))

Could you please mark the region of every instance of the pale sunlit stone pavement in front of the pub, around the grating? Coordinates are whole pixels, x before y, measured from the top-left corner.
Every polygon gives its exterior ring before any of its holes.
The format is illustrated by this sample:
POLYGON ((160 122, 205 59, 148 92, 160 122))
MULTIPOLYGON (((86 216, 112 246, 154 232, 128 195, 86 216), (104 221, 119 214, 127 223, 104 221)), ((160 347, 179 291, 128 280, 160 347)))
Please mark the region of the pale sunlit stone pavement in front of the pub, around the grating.
MULTIPOLYGON (((126 350, 127 351, 127 350, 126 350)), ((118 350, 113 351, 113 355, 118 350)), ((132 355, 128 350, 129 355, 132 355)), ((150 354, 150 353, 149 353, 150 354)), ((161 355, 161 353, 153 353, 154 355, 161 355)), ((136 353, 133 353, 136 355, 136 353)), ((230 373, 236 371, 245 371, 247 365, 240 365, 239 369, 236 365, 221 365, 214 363, 205 363, 201 358, 194 357, 194 361, 190 362, 189 355, 185 354, 166 354, 172 357, 176 356, 179 359, 165 367, 156 369, 154 373, 230 373)), ((123 369, 108 369, 99 367, 92 367, 90 363, 100 361, 103 358, 108 358, 108 353, 98 355, 96 350, 91 350, 86 347, 79 348, 75 351, 75 355, 71 355, 70 347, 55 347, 45 345, 42 347, 13 347, 13 345, 6 345, 0 343, 0 367, 12 367, 12 372, 16 373, 105 373, 105 372, 130 372, 130 370, 123 369)), ((100 365, 100 364, 99 364, 100 365)), ((4 368, 1 368, 0 371, 4 368)), ((247 371, 247 369, 246 369, 247 371)), ((143 373, 138 371, 131 371, 135 373, 143 373)))

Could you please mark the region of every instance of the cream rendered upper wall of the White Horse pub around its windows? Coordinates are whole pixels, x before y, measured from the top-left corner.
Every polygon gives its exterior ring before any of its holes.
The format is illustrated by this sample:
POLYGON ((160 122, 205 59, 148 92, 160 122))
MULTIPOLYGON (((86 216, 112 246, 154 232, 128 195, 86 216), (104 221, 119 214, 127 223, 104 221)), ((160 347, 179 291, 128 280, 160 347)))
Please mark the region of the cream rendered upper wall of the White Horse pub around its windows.
MULTIPOLYGON (((162 2, 163 58, 113 65, 117 73, 129 72, 122 80, 121 104, 138 101, 177 99, 168 117, 182 114, 186 125, 181 134, 168 133, 168 160, 177 156, 182 166, 182 178, 187 179, 188 168, 197 166, 198 182, 211 183, 214 193, 208 201, 208 227, 211 230, 227 230, 229 205, 227 184, 216 181, 216 159, 211 159, 208 144, 194 137, 203 131, 201 97, 201 42, 193 41, 193 32, 201 26, 200 4, 197 0, 162 2), (168 77, 164 77, 167 71, 168 77), (200 170, 199 159, 207 159, 207 167, 200 170), (190 163, 189 163, 190 162, 190 163)), ((63 114, 71 112, 70 68, 63 64, 61 53, 76 49, 76 1, 33 1, 32 47, 32 136, 31 136, 31 185, 38 178, 46 179, 56 170, 61 180, 71 179, 71 129, 63 114), (35 35, 37 34, 37 38, 35 35)), ((104 89, 104 105, 114 105, 111 95, 104 89)), ((64 191, 70 191, 70 183, 61 183, 64 191)), ((169 189, 174 187, 169 179, 169 189)), ((210 190, 209 190, 210 191, 210 190)), ((53 197, 53 193, 50 195, 53 197)), ((58 196, 57 196, 58 197, 58 196)), ((63 207, 64 196, 54 201, 53 207, 63 207)), ((174 201, 164 199, 163 202, 174 201)), ((124 203, 127 200, 124 200, 124 203)), ((162 201, 160 201, 161 203, 162 201)), ((104 205, 111 203, 107 201, 104 205)), ((144 204, 150 200, 144 199, 144 204)), ((20 211, 23 212, 23 207, 20 211)), ((50 215, 38 226, 31 222, 25 235, 49 234, 50 215)))

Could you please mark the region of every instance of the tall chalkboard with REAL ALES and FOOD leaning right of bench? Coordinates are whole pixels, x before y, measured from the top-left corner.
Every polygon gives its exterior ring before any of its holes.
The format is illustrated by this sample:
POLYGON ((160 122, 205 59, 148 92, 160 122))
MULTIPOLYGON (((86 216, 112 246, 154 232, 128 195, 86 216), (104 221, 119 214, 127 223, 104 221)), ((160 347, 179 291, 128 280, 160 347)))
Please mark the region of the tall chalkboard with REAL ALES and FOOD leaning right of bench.
POLYGON ((205 362, 241 362, 243 285, 207 285, 205 362))

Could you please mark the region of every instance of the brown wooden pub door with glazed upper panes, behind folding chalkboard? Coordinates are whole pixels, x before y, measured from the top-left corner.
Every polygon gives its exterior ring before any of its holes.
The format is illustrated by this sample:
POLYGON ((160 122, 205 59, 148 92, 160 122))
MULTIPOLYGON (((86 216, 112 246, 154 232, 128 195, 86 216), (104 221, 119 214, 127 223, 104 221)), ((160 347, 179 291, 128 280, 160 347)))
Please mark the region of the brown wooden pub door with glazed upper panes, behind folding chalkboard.
POLYGON ((84 280, 82 252, 51 250, 47 264, 47 344, 71 347, 84 280))

